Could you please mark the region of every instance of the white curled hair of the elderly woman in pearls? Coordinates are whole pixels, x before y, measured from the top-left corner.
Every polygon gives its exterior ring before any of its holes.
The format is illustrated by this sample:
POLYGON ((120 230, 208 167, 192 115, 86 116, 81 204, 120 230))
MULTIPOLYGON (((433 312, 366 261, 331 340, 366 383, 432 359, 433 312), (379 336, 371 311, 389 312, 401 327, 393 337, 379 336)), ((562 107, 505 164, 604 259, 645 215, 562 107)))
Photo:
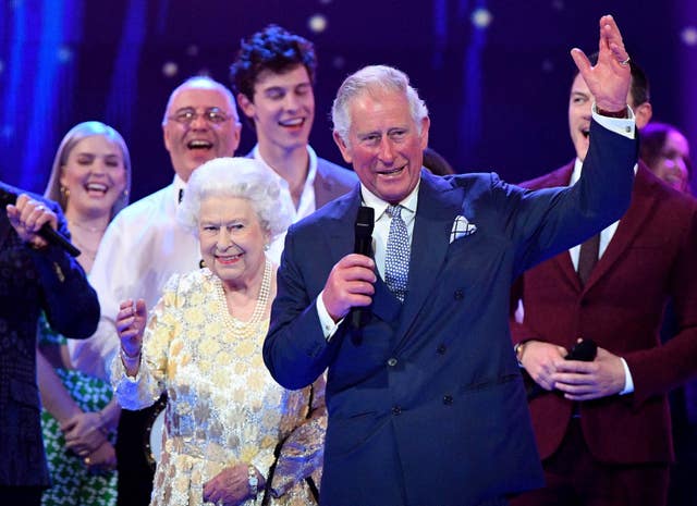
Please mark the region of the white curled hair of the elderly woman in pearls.
POLYGON ((288 183, 252 158, 216 158, 194 171, 176 212, 184 229, 198 233, 200 203, 211 196, 247 199, 271 239, 291 224, 293 201, 288 183))

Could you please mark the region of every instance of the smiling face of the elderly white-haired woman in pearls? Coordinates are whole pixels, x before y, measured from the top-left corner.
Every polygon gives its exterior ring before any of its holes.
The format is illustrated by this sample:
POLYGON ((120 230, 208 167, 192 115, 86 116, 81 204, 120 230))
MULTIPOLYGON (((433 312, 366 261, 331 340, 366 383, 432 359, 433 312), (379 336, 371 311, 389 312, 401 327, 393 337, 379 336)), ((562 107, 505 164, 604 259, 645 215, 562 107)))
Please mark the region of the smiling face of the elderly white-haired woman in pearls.
POLYGON ((205 197, 198 215, 200 254, 206 267, 229 289, 260 280, 269 233, 261 227, 249 200, 222 196, 205 197))

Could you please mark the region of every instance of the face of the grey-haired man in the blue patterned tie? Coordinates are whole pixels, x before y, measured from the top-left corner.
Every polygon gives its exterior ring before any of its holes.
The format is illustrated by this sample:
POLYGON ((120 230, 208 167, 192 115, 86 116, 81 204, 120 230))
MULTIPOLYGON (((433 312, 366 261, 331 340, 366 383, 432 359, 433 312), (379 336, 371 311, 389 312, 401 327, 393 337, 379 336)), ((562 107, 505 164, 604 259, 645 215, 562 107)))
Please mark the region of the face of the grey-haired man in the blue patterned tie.
POLYGON ((334 132, 341 155, 370 193, 387 202, 400 202, 418 183, 428 144, 428 118, 418 125, 405 94, 386 90, 355 97, 348 104, 348 116, 347 138, 334 132))

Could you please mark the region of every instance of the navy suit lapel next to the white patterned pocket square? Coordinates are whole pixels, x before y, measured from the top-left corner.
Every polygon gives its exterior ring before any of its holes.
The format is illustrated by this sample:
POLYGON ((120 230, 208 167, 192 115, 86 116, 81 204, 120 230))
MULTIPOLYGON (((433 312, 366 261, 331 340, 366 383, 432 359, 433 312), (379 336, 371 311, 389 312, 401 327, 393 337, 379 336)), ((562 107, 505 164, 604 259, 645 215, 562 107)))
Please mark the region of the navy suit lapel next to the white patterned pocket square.
POLYGON ((404 300, 398 340, 403 340, 438 280, 450 246, 450 232, 461 213, 463 190, 421 171, 418 208, 409 258, 408 294, 404 300))

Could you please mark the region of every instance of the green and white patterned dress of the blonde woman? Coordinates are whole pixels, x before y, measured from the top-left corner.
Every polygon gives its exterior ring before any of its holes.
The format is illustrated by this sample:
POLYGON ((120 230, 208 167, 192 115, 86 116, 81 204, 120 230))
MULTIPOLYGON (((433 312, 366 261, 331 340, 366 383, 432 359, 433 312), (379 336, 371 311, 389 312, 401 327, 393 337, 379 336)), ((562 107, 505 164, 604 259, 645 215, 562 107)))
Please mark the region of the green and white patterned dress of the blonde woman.
MULTIPOLYGON (((65 338, 51 330, 46 319, 39 321, 39 345, 65 344, 65 338)), ((63 385, 85 412, 103 408, 112 397, 111 385, 83 372, 56 369, 63 385)), ((52 485, 44 492, 44 506, 113 506, 117 504, 117 471, 88 471, 73 452, 65 449, 65 440, 58 420, 46 409, 41 411, 44 445, 52 485)), ((110 435, 113 444, 115 437, 110 435)))

